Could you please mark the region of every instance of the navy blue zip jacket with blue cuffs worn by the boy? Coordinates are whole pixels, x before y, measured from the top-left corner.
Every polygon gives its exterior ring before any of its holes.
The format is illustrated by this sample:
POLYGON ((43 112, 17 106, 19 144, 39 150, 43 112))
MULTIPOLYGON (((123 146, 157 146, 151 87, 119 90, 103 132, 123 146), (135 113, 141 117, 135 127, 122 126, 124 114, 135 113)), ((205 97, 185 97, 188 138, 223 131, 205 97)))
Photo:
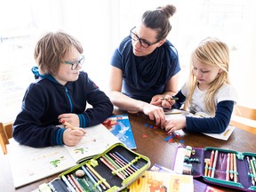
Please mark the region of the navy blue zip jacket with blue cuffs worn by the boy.
POLYGON ((35 148, 63 145, 65 130, 56 126, 60 114, 75 113, 83 128, 101 124, 111 116, 113 104, 84 71, 66 85, 52 76, 40 75, 36 67, 32 71, 36 82, 28 86, 13 124, 13 138, 20 144, 35 148), (86 102, 92 108, 86 108, 86 102))

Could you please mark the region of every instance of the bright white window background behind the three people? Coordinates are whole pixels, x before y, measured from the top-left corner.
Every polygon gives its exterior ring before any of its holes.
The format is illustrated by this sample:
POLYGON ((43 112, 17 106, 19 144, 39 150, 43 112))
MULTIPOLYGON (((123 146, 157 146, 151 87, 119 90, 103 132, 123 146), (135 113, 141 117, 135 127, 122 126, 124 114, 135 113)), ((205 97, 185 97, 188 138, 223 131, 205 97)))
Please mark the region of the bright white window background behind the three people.
POLYGON ((63 29, 76 36, 84 45, 84 70, 108 92, 108 66, 116 46, 143 12, 170 3, 177 7, 168 39, 180 54, 180 86, 188 77, 192 50, 204 37, 216 36, 231 49, 229 74, 238 102, 256 108, 253 0, 11 0, 1 4, 0 12, 0 121, 14 119, 20 110, 34 80, 34 47, 44 32, 63 29))

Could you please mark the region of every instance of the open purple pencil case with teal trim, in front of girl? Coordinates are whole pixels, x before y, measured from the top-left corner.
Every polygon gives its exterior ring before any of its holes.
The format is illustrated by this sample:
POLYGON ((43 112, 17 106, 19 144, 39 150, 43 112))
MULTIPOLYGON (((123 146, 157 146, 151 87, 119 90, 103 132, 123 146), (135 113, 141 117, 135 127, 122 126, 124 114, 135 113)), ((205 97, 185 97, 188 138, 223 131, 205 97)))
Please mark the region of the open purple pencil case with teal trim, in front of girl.
POLYGON ((208 183, 243 191, 256 191, 256 154, 223 148, 176 149, 172 170, 203 177, 208 183), (211 158, 212 157, 212 158, 211 158), (253 173, 254 172, 254 173, 253 173))

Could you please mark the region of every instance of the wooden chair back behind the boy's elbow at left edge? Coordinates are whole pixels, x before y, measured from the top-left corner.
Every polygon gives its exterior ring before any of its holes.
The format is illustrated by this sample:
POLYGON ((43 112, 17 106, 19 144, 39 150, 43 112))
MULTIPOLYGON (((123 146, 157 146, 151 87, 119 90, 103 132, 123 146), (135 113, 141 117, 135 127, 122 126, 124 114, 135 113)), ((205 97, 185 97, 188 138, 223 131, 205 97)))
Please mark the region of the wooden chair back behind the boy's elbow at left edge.
POLYGON ((6 145, 9 144, 9 139, 12 138, 12 124, 13 122, 0 123, 0 144, 4 155, 7 154, 6 145))

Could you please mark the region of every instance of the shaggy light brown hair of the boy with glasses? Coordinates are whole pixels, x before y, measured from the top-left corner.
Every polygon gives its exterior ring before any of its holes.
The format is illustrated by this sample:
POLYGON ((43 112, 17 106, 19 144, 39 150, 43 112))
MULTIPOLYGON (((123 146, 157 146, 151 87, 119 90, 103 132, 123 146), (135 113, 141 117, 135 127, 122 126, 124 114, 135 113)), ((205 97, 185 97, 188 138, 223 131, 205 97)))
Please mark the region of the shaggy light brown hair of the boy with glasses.
POLYGON ((82 44, 75 37, 58 31, 44 35, 36 44, 34 58, 41 74, 54 75, 60 68, 60 62, 74 46, 81 54, 82 44))

